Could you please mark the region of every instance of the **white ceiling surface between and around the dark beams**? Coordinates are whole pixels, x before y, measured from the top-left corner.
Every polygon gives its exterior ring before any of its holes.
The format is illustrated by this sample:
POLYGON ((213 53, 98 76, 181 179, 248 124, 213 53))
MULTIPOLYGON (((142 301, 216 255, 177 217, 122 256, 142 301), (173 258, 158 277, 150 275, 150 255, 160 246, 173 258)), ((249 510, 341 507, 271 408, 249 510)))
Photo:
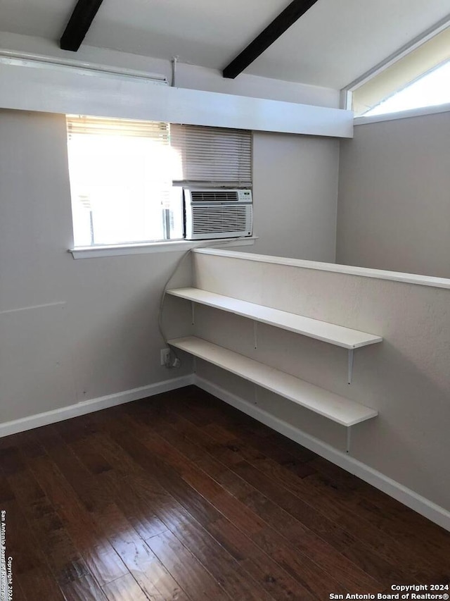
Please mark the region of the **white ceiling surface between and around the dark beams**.
MULTIPOLYGON (((75 4, 0 0, 0 30, 57 41, 75 4)), ((223 69, 288 4, 103 0, 84 44, 223 69)), ((318 0, 245 73, 341 89, 448 12, 442 0, 318 0)))

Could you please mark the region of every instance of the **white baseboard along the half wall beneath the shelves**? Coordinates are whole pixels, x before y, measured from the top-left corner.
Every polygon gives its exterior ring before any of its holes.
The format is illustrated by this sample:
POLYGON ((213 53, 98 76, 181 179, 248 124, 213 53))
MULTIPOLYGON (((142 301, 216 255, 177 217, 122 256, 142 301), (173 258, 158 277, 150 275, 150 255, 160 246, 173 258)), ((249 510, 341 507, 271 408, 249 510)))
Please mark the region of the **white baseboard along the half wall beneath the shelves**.
POLYGON ((368 484, 378 488, 378 490, 382 490, 387 495, 390 495, 390 497, 403 503, 406 507, 413 509, 418 512, 418 514, 437 523, 438 526, 442 526, 442 528, 450 531, 450 512, 443 507, 439 507, 439 505, 418 495, 416 492, 406 488, 406 486, 399 482, 388 478, 383 473, 361 463, 361 461, 350 457, 348 454, 342 453, 334 447, 327 445, 326 442, 290 426, 289 423, 276 418, 268 411, 245 401, 245 399, 241 397, 231 394, 231 392, 215 385, 209 380, 195 376, 193 383, 198 386, 198 388, 205 390, 205 392, 210 392, 214 397, 231 404, 233 407, 236 407, 236 409, 243 411, 243 413, 250 415, 264 423, 266 426, 269 426, 269 428, 276 430, 291 440, 295 440, 295 442, 298 442, 303 447, 321 455, 321 457, 328 459, 328 461, 332 461, 333 464, 340 466, 342 469, 353 473, 355 476, 358 476, 358 478, 361 478, 361 480, 364 480, 368 484))

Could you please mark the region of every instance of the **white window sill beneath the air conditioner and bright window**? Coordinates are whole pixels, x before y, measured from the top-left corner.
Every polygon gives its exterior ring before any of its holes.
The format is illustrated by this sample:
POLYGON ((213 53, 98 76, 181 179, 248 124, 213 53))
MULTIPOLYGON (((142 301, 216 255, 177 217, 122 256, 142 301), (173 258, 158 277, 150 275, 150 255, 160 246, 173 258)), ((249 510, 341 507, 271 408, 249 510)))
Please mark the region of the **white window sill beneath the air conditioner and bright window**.
POLYGON ((112 244, 98 247, 75 247, 69 249, 74 259, 93 259, 103 256, 124 256, 127 254, 148 254, 149 252, 183 252, 193 248, 236 247, 255 244, 257 236, 245 238, 224 238, 215 240, 167 240, 163 242, 145 242, 141 244, 112 244))

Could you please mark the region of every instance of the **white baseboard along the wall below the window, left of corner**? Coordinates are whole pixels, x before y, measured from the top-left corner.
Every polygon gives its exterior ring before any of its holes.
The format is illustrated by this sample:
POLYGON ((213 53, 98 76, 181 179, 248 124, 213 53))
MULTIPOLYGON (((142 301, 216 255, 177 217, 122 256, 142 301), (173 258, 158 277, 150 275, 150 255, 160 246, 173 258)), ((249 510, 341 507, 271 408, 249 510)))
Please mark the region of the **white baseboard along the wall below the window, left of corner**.
POLYGON ((176 388, 184 388, 184 386, 193 383, 194 375, 189 374, 188 376, 180 376, 173 380, 164 380, 163 382, 157 382, 148 386, 141 386, 140 388, 117 392, 114 395, 98 397, 96 399, 90 399, 89 401, 68 405, 68 407, 60 407, 60 409, 53 409, 52 411, 30 415, 23 417, 22 419, 7 421, 0 424, 0 438, 10 434, 24 432, 25 430, 32 430, 32 428, 38 428, 39 426, 47 426, 49 423, 56 423, 57 421, 93 413, 94 411, 100 411, 101 409, 108 409, 108 407, 115 407, 115 405, 145 399, 146 397, 153 397, 154 395, 160 395, 161 392, 168 392, 169 390, 175 390, 176 388))

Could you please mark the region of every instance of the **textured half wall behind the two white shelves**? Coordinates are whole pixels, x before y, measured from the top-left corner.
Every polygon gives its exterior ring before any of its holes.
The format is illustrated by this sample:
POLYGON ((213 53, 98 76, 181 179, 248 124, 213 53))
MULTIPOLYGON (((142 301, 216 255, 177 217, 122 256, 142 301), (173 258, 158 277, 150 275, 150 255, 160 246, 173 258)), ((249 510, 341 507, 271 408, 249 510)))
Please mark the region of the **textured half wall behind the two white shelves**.
MULTIPOLYGON (((195 333, 281 371, 378 409, 352 427, 350 455, 450 510, 446 449, 450 421, 450 289, 300 266, 262 263, 247 254, 194 254, 198 287, 383 336, 356 349, 347 384, 345 349, 199 306, 195 333)), ((450 283, 449 283, 450 284, 450 283)), ((179 306, 186 301, 179 299, 179 306)), ((197 361, 197 375, 293 429, 345 453, 346 428, 251 383, 197 361)), ((447 526, 449 516, 447 515, 447 526)))

